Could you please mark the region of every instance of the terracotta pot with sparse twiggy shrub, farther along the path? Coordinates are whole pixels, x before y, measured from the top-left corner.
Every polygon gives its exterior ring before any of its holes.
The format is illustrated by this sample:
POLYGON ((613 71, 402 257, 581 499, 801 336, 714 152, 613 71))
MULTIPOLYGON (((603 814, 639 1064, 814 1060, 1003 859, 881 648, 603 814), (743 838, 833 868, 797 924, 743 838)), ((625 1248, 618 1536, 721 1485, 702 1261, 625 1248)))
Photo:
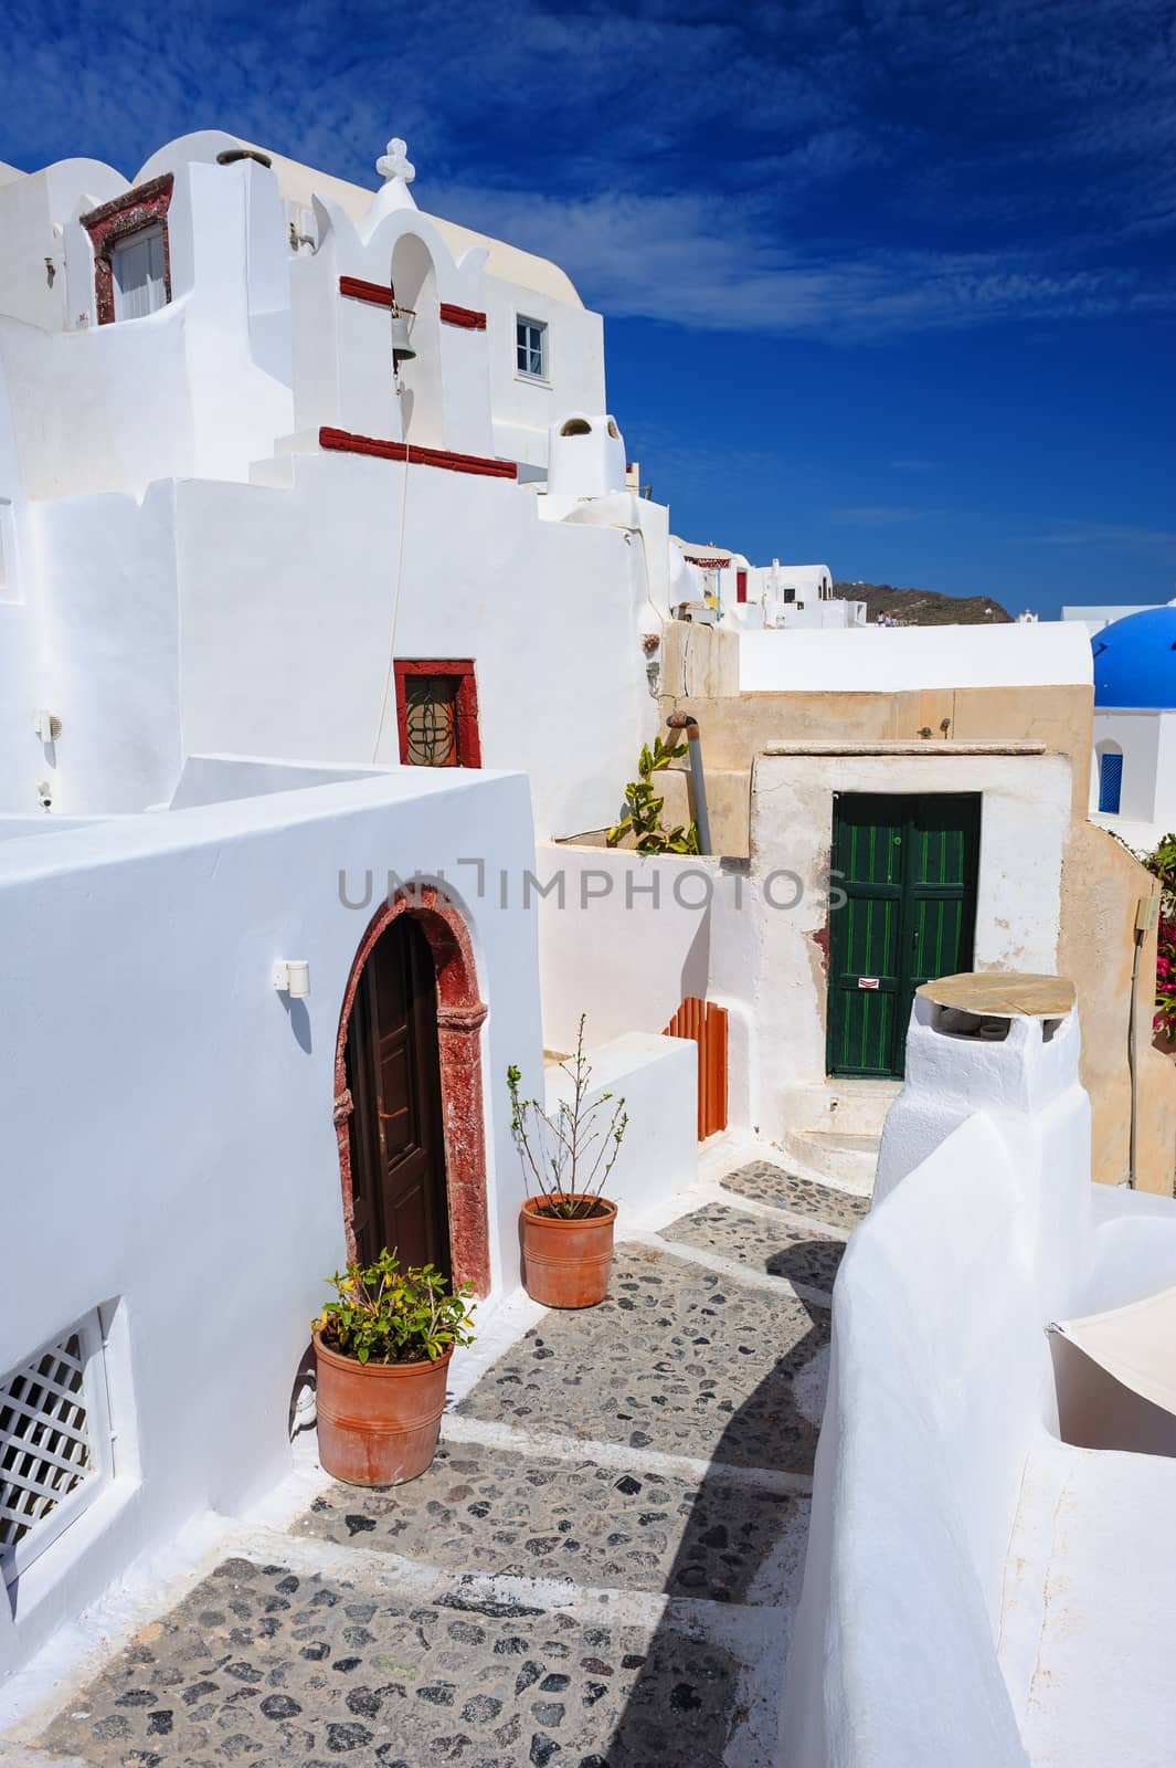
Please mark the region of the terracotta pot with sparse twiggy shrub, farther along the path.
POLYGON ((625 1100, 600 1093, 588 1103, 592 1063, 584 1055, 584 1018, 576 1055, 560 1068, 572 1098, 554 1114, 519 1093, 519 1070, 507 1070, 510 1130, 537 1190, 519 1213, 523 1280, 533 1301, 549 1308, 592 1308, 604 1301, 613 1266, 616 1204, 602 1197, 620 1155, 629 1116, 625 1100))

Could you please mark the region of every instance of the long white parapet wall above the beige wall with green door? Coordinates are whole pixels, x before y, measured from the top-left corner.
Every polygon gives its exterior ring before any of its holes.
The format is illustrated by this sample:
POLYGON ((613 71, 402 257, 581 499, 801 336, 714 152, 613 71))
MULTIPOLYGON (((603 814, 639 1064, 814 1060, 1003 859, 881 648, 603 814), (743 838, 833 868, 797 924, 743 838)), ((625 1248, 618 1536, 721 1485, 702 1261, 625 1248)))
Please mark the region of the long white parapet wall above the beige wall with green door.
POLYGON ((1084 628, 867 626, 844 633, 743 633, 743 693, 901 693, 913 688, 1049 688, 1093 681, 1084 628))

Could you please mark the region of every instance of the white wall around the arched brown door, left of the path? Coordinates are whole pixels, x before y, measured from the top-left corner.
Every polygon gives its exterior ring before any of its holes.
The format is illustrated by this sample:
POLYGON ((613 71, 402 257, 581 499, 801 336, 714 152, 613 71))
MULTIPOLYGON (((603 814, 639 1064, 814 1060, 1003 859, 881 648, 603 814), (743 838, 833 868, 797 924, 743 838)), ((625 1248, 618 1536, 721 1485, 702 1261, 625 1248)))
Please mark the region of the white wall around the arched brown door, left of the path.
POLYGON ((526 781, 394 778, 134 817, 0 845, 0 1372, 97 1305, 120 1478, 0 1602, 25 1658, 192 1513, 238 1513, 288 1467, 288 1404, 344 1255, 339 1013, 387 870, 456 879, 473 932, 496 1289, 521 1197, 505 1071, 542 1089, 535 912, 479 898, 457 859, 531 861, 526 781), (348 909, 374 872, 376 900, 348 909), (464 893, 463 893, 464 891, 464 893), (311 997, 270 985, 309 958, 311 997), (51 1204, 48 1204, 51 1199, 51 1204))

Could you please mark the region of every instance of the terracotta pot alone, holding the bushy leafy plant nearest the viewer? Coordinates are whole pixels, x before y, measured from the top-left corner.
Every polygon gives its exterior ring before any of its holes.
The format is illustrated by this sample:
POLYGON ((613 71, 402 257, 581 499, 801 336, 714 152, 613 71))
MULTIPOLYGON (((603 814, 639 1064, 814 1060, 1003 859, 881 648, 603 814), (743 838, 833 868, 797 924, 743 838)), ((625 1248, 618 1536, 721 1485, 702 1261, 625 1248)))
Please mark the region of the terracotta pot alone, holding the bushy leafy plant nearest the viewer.
POLYGON ((436 1453, 452 1349, 436 1363, 360 1363, 314 1333, 318 1459, 348 1485, 401 1485, 436 1453))

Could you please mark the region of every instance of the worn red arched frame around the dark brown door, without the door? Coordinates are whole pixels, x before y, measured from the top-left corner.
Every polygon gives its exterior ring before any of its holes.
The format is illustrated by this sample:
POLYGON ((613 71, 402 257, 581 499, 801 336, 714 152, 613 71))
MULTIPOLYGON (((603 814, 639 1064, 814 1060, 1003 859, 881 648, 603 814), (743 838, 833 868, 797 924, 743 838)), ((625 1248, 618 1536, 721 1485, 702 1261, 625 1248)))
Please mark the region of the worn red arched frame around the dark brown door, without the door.
POLYGON ((429 941, 436 965, 436 1027, 441 1057, 441 1119, 445 1188, 449 1192, 449 1246, 454 1280, 473 1284, 479 1296, 491 1287, 489 1211, 486 1199, 486 1114, 482 1105, 480 1031, 487 1006, 479 995, 470 930, 457 909, 431 886, 396 896, 367 926, 343 995, 335 1040, 335 1135, 343 1183, 343 1222, 348 1257, 355 1257, 355 1202, 351 1193, 351 1093, 348 1091, 348 1022, 355 990, 380 935, 397 914, 411 914, 429 941))

